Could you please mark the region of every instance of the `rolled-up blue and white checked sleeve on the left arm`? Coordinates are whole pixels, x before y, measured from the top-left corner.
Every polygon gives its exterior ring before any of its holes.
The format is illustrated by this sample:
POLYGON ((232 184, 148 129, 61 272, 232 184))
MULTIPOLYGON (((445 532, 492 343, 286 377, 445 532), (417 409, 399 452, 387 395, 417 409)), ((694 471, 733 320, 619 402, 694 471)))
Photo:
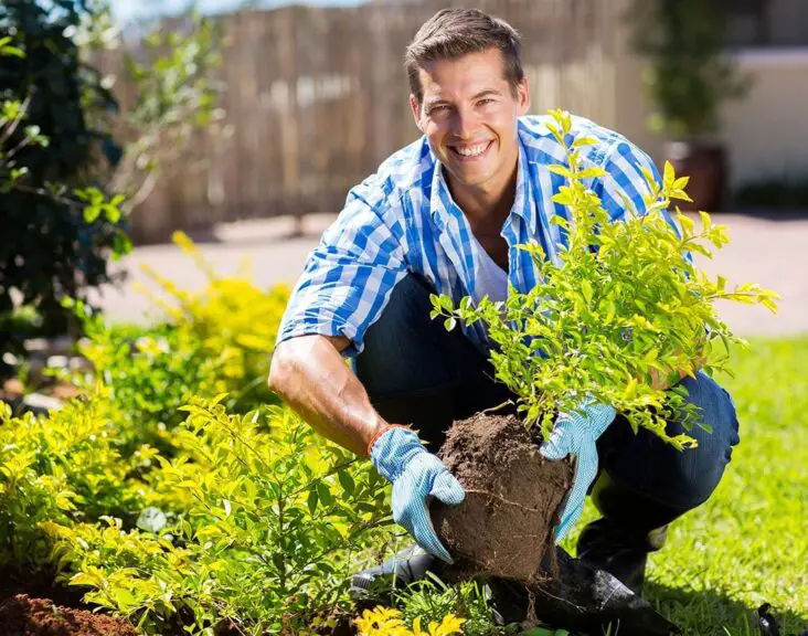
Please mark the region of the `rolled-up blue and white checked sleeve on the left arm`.
POLYGON ((344 336, 342 351, 362 351, 364 333, 381 315, 393 287, 406 274, 398 200, 372 182, 351 190, 337 221, 309 254, 278 330, 277 342, 319 333, 344 336))

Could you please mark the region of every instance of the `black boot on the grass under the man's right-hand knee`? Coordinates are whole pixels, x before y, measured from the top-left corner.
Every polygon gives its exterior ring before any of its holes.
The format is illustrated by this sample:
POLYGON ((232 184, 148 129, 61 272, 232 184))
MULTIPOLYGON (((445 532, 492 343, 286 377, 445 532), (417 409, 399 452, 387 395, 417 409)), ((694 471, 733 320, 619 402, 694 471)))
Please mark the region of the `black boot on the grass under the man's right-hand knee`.
POLYGON ((581 532, 577 558, 642 594, 648 553, 665 545, 668 524, 684 513, 613 480, 605 471, 592 490, 603 515, 581 532))

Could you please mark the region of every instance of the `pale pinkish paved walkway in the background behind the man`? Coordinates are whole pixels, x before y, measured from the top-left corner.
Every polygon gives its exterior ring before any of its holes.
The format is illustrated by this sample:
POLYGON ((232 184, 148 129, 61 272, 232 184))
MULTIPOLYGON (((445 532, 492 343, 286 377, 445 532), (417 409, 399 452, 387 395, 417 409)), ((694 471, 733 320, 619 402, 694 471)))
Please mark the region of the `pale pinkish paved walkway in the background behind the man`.
MULTIPOLYGON (((242 222, 216 231, 215 241, 200 243, 205 258, 222 275, 235 273, 245 256, 251 257, 258 285, 294 284, 308 252, 333 215, 317 214, 305 220, 301 237, 289 239, 288 219, 242 222)), ((731 243, 714 261, 700 258, 711 274, 722 274, 733 283, 759 283, 782 296, 780 310, 772 315, 762 307, 735 303, 720 306, 722 315, 743 336, 808 333, 808 219, 769 221, 737 214, 715 214, 715 223, 730 227, 731 243)), ((134 289, 147 284, 141 264, 173 280, 181 288, 196 289, 204 276, 174 245, 143 246, 120 262, 130 273, 120 288, 105 288, 99 303, 117 321, 148 320, 149 301, 134 289)))

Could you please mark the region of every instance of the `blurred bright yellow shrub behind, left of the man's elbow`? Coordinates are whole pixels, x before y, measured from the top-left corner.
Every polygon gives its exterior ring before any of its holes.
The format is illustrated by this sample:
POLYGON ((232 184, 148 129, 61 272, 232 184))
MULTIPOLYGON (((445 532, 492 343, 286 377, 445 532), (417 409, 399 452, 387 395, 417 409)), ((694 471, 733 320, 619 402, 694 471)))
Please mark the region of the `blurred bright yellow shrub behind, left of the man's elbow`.
POLYGON ((171 455, 173 430, 183 420, 180 406, 194 396, 226 392, 227 406, 242 413, 277 402, 266 379, 288 289, 261 289, 247 272, 221 277, 185 235, 178 233, 176 241, 208 280, 201 290, 187 292, 148 269, 162 292, 151 294, 163 310, 157 326, 132 337, 131 329, 108 326, 74 304, 88 337, 78 350, 93 371, 67 377, 86 391, 107 388, 106 410, 125 455, 141 444, 171 455))

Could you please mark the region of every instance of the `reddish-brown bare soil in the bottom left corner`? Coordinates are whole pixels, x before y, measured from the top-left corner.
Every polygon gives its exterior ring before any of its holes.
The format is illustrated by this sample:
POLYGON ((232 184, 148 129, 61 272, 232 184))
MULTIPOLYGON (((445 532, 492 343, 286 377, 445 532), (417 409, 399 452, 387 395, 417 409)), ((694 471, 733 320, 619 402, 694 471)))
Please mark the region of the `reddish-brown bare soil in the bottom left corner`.
POLYGON ((121 618, 57 607, 19 594, 0 605, 0 636, 137 636, 121 618))

